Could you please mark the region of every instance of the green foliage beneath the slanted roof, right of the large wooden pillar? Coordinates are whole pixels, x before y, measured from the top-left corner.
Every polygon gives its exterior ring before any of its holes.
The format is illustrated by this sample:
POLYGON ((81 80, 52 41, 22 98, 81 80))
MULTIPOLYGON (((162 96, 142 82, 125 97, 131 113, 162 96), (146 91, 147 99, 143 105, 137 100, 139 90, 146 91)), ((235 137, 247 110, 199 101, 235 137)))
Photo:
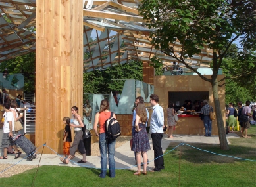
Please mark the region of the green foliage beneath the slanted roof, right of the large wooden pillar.
POLYGON ((109 94, 111 91, 122 91, 125 79, 142 81, 142 62, 131 60, 120 66, 97 69, 84 73, 84 93, 109 94))

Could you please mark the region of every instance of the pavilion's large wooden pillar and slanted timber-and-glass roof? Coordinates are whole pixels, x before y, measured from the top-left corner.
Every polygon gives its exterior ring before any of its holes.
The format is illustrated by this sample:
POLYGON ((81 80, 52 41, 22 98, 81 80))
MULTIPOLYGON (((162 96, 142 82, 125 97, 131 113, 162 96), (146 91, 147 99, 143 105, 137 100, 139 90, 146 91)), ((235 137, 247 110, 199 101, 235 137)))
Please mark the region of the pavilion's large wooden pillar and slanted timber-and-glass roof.
MULTIPOLYGON (((0 0, 0 62, 36 51, 36 146, 62 152, 61 119, 82 108, 83 73, 140 59, 143 81, 153 84, 155 54, 146 21, 134 0, 0 0)), ((170 43, 177 55, 180 43, 170 43)), ((212 51, 188 58, 209 67, 212 51)), ((182 66, 182 64, 180 64, 182 66)), ((52 153, 51 150, 46 150, 52 153)))

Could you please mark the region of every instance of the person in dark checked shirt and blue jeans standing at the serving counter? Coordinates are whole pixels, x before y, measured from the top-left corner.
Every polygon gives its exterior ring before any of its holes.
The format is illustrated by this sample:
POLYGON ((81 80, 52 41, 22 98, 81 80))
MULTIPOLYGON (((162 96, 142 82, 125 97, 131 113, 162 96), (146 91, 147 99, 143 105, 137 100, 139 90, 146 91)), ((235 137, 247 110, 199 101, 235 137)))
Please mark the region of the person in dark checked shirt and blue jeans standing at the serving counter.
POLYGON ((203 117, 203 125, 205 126, 205 135, 206 137, 211 136, 211 118, 209 115, 209 112, 213 112, 213 107, 209 106, 208 100, 203 100, 203 108, 201 109, 201 114, 203 114, 205 117, 203 117))

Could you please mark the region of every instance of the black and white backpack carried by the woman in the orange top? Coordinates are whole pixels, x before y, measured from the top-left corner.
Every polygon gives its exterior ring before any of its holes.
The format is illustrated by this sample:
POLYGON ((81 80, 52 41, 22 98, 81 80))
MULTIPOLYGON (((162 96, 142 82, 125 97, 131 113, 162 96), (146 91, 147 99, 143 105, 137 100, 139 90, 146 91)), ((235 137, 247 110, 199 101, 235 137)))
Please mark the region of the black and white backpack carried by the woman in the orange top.
POLYGON ((118 121, 113 117, 114 112, 111 112, 109 119, 105 121, 105 129, 108 140, 115 140, 121 135, 121 128, 118 121))

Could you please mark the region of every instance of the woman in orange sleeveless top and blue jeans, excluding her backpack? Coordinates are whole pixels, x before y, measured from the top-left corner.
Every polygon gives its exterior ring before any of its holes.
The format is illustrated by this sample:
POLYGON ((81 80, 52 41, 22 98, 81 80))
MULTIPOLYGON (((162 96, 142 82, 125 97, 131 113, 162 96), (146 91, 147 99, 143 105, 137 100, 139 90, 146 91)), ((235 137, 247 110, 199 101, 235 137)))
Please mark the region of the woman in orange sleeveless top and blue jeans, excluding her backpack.
MULTIPOLYGON (((109 154, 109 177, 115 177, 115 144, 116 140, 107 140, 105 133, 105 121, 109 119, 109 101, 101 100, 101 108, 95 115, 93 129, 96 136, 99 136, 99 151, 101 152, 101 173, 99 177, 105 178, 107 174, 107 153, 109 154), (99 133, 97 125, 99 124, 99 133)), ((116 115, 113 114, 116 119, 116 115)))

